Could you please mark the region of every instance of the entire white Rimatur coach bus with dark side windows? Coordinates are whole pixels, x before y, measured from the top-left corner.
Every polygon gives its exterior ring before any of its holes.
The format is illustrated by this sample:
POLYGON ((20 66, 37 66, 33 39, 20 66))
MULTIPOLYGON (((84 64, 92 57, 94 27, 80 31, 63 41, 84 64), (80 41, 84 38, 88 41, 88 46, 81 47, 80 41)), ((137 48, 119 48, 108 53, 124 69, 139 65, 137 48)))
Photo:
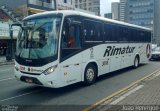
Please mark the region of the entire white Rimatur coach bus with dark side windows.
POLYGON ((147 63, 151 30, 76 11, 26 17, 17 37, 15 77, 45 87, 77 82, 147 63))

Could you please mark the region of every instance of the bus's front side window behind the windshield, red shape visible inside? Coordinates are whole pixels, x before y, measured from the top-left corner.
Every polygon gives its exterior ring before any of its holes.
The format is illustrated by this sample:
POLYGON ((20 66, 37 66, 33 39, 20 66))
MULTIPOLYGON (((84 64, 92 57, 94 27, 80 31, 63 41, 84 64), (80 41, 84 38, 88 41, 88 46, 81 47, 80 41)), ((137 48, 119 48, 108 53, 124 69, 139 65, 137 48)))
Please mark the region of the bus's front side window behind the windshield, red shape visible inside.
POLYGON ((70 24, 62 30, 61 60, 65 60, 81 50, 81 25, 70 24))

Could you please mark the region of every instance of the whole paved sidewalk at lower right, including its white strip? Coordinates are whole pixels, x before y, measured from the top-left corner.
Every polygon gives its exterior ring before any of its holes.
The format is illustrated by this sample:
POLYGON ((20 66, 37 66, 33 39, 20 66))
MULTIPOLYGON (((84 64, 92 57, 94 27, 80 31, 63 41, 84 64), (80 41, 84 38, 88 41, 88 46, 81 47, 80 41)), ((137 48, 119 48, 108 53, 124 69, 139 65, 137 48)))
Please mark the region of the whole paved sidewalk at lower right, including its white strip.
POLYGON ((91 110, 160 111, 160 70, 91 110))

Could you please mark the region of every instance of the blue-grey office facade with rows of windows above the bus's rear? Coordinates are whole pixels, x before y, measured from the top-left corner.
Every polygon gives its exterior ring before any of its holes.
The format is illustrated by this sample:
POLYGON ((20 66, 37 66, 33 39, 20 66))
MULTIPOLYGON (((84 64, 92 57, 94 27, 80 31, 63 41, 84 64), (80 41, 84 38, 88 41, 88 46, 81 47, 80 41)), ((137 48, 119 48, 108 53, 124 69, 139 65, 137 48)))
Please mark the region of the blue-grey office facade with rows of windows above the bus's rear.
POLYGON ((154 0, 128 0, 127 22, 153 28, 154 0))

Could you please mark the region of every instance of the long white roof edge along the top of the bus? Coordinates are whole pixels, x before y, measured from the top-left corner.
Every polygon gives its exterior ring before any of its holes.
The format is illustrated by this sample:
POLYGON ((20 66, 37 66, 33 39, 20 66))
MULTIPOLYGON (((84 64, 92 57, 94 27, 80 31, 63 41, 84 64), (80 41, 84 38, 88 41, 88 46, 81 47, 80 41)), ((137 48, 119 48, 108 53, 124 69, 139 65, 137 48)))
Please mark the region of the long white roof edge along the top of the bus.
POLYGON ((97 19, 97 20, 106 21, 106 22, 109 22, 109 23, 115 23, 115 24, 119 24, 119 25, 130 26, 130 27, 134 27, 134 28, 140 28, 140 29, 151 31, 150 28, 146 28, 146 27, 142 27, 142 26, 138 26, 138 25, 122 22, 122 21, 117 21, 117 20, 113 20, 113 19, 108 19, 108 18, 96 16, 96 15, 91 15, 91 14, 87 14, 87 13, 84 13, 84 12, 74 11, 74 10, 46 11, 46 12, 30 15, 30 16, 24 18, 24 20, 32 19, 32 18, 39 17, 39 16, 52 15, 52 14, 63 14, 64 16, 80 15, 80 16, 84 16, 84 17, 89 17, 89 18, 93 18, 93 19, 97 19))

